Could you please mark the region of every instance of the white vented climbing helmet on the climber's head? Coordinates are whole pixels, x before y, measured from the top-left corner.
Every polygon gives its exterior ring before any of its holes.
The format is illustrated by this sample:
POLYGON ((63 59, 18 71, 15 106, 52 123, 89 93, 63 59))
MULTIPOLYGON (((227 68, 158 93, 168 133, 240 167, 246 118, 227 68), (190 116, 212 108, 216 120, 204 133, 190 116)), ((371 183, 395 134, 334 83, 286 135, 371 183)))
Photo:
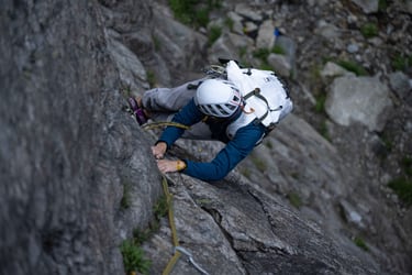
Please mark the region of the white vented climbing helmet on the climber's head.
POLYGON ((242 97, 233 82, 223 79, 208 79, 199 86, 194 102, 207 116, 229 118, 242 105, 242 97))

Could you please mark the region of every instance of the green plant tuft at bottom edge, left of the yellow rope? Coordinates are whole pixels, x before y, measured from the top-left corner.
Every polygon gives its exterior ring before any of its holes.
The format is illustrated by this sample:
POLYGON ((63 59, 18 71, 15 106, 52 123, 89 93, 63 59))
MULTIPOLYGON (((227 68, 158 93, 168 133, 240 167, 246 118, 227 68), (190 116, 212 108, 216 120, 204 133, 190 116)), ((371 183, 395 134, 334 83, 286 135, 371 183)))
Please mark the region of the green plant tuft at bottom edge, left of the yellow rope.
POLYGON ((123 241, 120 246, 120 251, 123 256, 123 265, 126 274, 132 272, 148 274, 152 262, 144 257, 142 248, 136 245, 134 240, 123 241))

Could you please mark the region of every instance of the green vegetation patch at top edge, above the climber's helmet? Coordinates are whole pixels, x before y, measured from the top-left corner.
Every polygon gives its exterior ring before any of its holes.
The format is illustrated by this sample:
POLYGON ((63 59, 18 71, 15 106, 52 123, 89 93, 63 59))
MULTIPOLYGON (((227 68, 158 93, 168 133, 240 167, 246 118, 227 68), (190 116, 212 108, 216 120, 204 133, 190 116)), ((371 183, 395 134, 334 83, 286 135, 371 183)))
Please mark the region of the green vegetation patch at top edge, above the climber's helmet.
POLYGON ((222 0, 169 0, 175 18, 194 28, 207 26, 209 13, 221 6, 222 0))

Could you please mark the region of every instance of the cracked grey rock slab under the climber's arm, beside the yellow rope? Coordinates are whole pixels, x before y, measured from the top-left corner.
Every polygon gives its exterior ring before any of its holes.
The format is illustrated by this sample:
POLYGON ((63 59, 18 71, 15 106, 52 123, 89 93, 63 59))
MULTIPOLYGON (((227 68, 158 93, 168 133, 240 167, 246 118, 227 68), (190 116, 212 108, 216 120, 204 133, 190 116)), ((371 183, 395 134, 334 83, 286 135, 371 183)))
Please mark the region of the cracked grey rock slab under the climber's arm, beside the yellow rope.
MULTIPOLYGON (((315 223, 234 174, 210 185, 172 178, 175 218, 181 246, 209 274, 374 274, 374 261, 355 248, 343 248, 315 223), (183 183, 183 184, 181 184, 183 183)), ((172 251, 167 224, 145 245, 162 273, 172 251), (167 250, 165 250, 167 248, 167 250)), ((186 255, 182 255, 185 260, 186 255)), ((178 274, 193 274, 180 261, 178 274)))

